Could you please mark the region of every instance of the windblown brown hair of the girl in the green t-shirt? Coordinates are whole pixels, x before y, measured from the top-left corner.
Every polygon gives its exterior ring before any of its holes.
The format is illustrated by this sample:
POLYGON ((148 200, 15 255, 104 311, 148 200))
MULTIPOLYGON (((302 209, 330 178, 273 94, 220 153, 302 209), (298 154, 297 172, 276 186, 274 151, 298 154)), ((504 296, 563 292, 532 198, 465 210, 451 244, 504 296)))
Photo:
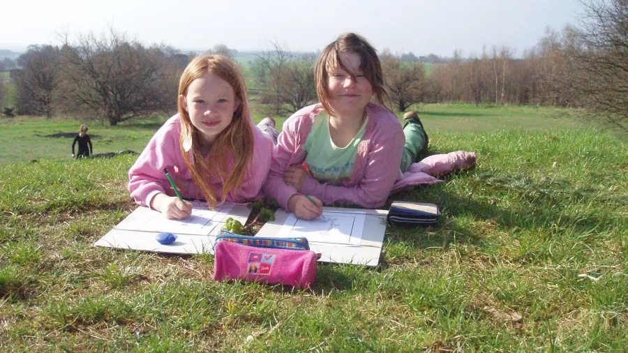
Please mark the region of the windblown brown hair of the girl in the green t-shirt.
POLYGON ((356 33, 343 33, 338 36, 338 39, 325 47, 316 60, 314 83, 318 100, 324 109, 328 113, 333 112, 329 105, 329 70, 341 67, 355 80, 356 73, 345 67, 340 60, 339 54, 343 52, 354 52, 360 56, 360 70, 364 73, 366 80, 371 83, 377 103, 391 110, 389 107, 391 100, 384 90, 384 74, 380 59, 377 57, 377 50, 368 43, 368 40, 356 33))

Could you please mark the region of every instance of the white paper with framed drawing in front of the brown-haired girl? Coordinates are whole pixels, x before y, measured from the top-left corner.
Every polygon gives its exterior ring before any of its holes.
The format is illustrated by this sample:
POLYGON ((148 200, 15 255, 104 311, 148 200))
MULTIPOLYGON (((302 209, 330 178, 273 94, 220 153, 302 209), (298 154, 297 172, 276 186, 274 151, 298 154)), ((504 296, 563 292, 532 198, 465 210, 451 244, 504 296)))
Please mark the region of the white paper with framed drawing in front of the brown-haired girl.
POLYGON ((359 246, 365 220, 366 212, 361 211, 323 211, 313 220, 301 220, 290 213, 277 236, 303 236, 311 243, 359 246))

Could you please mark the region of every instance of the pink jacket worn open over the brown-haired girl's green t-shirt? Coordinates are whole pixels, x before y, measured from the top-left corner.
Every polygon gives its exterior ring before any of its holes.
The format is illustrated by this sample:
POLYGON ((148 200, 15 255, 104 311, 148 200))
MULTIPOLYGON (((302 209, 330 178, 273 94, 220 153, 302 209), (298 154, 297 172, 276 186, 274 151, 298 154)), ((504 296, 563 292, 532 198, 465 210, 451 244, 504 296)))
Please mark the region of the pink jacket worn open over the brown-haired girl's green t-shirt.
MULTIPOLYGON (((283 175, 290 165, 304 162, 307 153, 301 147, 321 110, 320 103, 299 110, 285 121, 279 134, 264 194, 274 197, 284 209, 287 209, 288 199, 297 194, 297 190, 285 184, 283 175)), ((308 177, 301 194, 318 197, 324 204, 341 202, 367 208, 384 205, 395 181, 401 179, 399 166, 405 136, 399 119, 389 110, 368 103, 366 112, 368 123, 358 144, 350 181, 344 186, 333 186, 308 177)))

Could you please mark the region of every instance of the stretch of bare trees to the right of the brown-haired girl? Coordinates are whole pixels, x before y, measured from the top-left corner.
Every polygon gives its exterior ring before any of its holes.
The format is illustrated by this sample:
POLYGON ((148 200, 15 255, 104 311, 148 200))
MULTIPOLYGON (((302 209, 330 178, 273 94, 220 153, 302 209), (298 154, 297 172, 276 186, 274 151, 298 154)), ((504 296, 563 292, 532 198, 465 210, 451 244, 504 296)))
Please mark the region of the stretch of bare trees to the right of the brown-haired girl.
POLYGON ((464 59, 456 51, 427 75, 422 63, 384 51, 389 96, 400 111, 419 102, 586 107, 628 132, 628 1, 581 3, 576 26, 547 29, 520 58, 505 46, 464 59))

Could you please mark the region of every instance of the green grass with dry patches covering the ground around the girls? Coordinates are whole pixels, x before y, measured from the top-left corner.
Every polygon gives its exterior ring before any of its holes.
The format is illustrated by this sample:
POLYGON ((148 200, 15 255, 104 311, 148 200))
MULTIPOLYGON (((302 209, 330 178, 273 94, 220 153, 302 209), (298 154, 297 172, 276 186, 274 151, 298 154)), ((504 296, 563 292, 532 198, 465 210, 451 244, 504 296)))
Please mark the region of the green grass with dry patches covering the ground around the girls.
MULTIPOLYGON (((440 224, 387 227, 379 266, 320 264, 306 291, 216 283, 211 255, 92 246, 135 209, 134 156, 11 160, 0 168, 0 350, 625 350, 628 145, 568 117, 537 130, 557 110, 517 109, 424 107, 431 152, 475 151, 477 167, 395 195, 440 205, 440 224), (515 128, 517 115, 530 130, 515 128), (455 131, 447 119, 510 128, 455 131)), ((33 126, 40 135, 77 126, 2 124, 9 144, 16 131, 32 140, 33 126)), ((157 125, 93 130, 139 143, 157 125)))

